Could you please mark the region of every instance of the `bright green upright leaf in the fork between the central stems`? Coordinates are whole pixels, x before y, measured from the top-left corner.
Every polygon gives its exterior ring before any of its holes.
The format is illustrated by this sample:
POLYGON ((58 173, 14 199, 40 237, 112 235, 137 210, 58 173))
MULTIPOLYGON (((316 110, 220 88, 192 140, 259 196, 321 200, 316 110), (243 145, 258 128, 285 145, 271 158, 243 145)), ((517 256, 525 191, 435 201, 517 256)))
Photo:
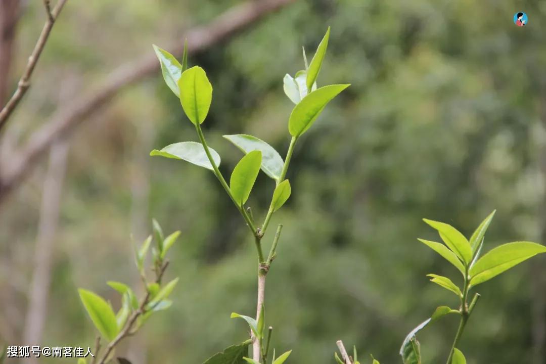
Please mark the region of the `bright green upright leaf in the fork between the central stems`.
POLYGON ((252 151, 242 157, 233 169, 232 177, 229 180, 229 189, 239 206, 244 205, 248 200, 256 177, 258 177, 260 165, 262 165, 262 152, 252 151))

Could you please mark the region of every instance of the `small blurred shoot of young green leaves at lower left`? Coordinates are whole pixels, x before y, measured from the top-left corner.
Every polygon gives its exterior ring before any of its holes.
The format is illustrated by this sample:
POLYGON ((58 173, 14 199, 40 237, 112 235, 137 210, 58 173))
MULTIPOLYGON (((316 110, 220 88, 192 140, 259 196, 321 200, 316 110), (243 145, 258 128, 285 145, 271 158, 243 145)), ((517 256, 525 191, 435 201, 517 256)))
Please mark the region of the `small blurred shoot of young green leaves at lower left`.
MULTIPOLYGON (((146 238, 140 247, 135 246, 134 256, 135 264, 140 273, 146 294, 138 300, 133 289, 129 285, 109 281, 107 284, 121 295, 121 307, 117 312, 114 311, 110 302, 92 291, 79 289, 80 300, 97 331, 109 342, 98 363, 106 363, 114 355, 114 347, 124 337, 133 335, 145 321, 154 312, 163 311, 169 308, 173 302, 169 300, 179 278, 175 278, 167 284, 162 284, 162 277, 168 266, 165 260, 165 254, 177 238, 180 231, 175 231, 167 237, 163 236, 161 226, 156 220, 152 220, 153 237, 146 238), (155 279, 149 282, 146 277, 146 256, 150 250, 152 240, 155 240, 155 246, 152 247, 152 271, 155 273, 155 279)), ((98 351, 99 348, 96 348, 98 351)), ((95 353, 96 356, 99 353, 95 353)))

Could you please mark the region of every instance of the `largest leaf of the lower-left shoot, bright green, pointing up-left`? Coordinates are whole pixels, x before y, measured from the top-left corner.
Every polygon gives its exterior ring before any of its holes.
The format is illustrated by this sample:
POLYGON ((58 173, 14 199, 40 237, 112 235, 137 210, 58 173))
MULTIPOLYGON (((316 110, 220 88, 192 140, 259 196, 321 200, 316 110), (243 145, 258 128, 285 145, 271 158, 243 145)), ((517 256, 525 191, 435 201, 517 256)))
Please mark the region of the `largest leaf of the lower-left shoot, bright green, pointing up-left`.
POLYGON ((97 330, 109 341, 112 341, 116 337, 118 329, 116 315, 110 304, 91 291, 80 288, 78 292, 80 300, 97 330))

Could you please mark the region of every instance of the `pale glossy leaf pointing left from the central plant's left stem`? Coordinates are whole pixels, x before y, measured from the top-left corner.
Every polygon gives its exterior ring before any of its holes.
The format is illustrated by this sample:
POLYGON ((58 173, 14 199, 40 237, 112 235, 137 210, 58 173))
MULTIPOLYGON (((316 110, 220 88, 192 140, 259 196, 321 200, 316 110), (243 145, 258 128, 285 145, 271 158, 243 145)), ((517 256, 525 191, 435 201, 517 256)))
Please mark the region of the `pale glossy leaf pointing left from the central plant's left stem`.
MULTIPOLYGON (((220 156, 211 147, 209 147, 209 150, 214 164, 219 166, 220 156)), ((150 156, 161 156, 165 158, 185 160, 186 162, 210 169, 211 171, 214 170, 212 168, 212 164, 210 164, 209 158, 206 155, 203 145, 194 141, 183 141, 180 143, 170 144, 164 147, 161 151, 155 149, 150 152, 150 156)))

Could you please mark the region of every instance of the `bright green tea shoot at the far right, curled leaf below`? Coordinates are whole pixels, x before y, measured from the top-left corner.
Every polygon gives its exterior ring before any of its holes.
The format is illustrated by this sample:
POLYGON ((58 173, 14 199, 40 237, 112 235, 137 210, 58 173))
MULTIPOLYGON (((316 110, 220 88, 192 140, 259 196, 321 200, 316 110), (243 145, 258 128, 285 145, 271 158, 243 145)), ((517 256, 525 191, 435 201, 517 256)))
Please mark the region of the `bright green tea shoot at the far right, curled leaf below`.
MULTIPOLYGON (((416 337, 417 332, 448 314, 458 315, 460 317, 460 323, 446 363, 466 364, 465 356, 462 354, 461 350, 458 349, 458 344, 462 333, 465 330, 466 323, 480 297, 479 293, 475 293, 472 300, 469 302, 470 290, 478 284, 487 282, 491 278, 500 275, 524 260, 532 258, 540 253, 546 253, 546 247, 541 244, 528 241, 517 241, 502 244, 480 257, 484 246, 485 232, 489 228, 489 224, 494 215, 495 211, 491 212, 489 216, 479 224, 478 228, 476 228, 470 237, 470 240, 451 225, 423 219, 425 223, 438 231, 444 244, 420 238, 418 240, 440 254, 457 268, 462 275, 462 288, 447 277, 436 274, 429 274, 428 277, 430 277, 431 282, 436 283, 440 285, 440 287, 455 294, 459 298, 461 305, 458 309, 453 309, 449 306, 440 306, 436 308, 430 318, 423 321, 423 323, 419 324, 406 336, 402 343, 402 347, 400 348, 403 364, 422 363, 420 344, 416 337)), ((345 349, 341 350, 342 356, 343 350, 345 349)), ((338 364, 357 363, 356 350, 354 350, 354 358, 348 357, 346 354, 343 357, 346 359, 345 362, 339 358, 337 353, 335 354, 335 359, 338 364)), ((376 364, 375 361, 374 364, 376 364)))

